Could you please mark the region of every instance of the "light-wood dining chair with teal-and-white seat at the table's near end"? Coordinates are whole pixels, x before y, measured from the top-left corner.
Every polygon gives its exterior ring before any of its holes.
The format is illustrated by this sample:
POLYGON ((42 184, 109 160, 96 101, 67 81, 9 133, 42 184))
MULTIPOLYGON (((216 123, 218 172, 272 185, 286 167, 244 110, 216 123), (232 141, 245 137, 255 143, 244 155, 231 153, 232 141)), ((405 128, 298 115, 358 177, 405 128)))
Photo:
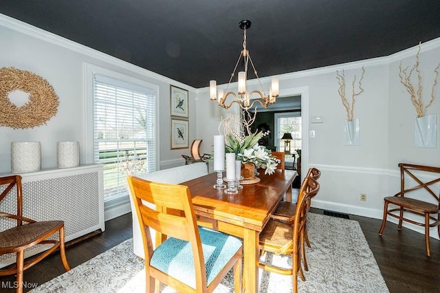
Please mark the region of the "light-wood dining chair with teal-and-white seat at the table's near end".
POLYGON ((178 292, 212 292, 231 268, 235 292, 241 292, 241 241, 197 226, 188 186, 133 176, 128 182, 144 243, 146 292, 159 282, 178 292), (164 240, 155 250, 149 228, 164 240))

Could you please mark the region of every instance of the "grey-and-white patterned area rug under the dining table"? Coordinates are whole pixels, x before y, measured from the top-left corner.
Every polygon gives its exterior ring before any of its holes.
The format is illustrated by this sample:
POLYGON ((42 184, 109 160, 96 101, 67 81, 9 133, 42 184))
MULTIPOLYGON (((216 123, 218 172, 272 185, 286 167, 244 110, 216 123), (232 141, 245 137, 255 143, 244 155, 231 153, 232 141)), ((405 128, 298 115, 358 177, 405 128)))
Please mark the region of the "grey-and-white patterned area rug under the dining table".
MULTIPOLYGON (((358 221, 309 213, 306 281, 298 277, 299 292, 388 292, 388 287, 358 221)), ((132 239, 78 265, 32 290, 37 292, 145 292, 144 262, 133 254, 132 239)), ((280 267, 290 257, 267 253, 262 261, 280 267)), ((292 276, 260 270, 260 292, 292 292, 292 276)), ((175 292, 166 287, 163 292, 175 292)), ((215 292, 234 292, 232 272, 215 292)), ((251 292, 252 293, 252 292, 251 292)))

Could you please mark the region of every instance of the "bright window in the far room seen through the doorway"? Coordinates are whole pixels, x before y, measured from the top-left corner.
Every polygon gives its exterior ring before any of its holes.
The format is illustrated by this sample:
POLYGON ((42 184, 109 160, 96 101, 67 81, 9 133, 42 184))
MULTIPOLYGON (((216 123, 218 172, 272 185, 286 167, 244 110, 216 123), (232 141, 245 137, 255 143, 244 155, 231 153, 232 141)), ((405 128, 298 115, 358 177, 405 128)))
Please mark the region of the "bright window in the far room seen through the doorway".
POLYGON ((301 149, 302 144, 302 118, 300 112, 277 113, 275 114, 275 143, 277 149, 285 151, 284 140, 281 140, 284 133, 291 133, 290 153, 295 153, 296 149, 301 149))

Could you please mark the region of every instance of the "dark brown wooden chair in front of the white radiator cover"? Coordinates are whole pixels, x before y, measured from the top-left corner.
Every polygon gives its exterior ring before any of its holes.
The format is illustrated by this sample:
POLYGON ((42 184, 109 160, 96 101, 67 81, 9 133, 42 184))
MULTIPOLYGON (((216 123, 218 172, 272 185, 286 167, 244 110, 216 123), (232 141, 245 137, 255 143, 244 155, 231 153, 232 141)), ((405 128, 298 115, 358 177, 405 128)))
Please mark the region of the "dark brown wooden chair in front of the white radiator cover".
POLYGON ((0 177, 0 191, 0 217, 12 226, 0 232, 0 254, 15 253, 17 258, 14 265, 0 269, 0 276, 17 274, 17 292, 23 292, 23 272, 58 248, 65 270, 70 270, 64 248, 64 221, 34 221, 23 216, 23 188, 20 175, 0 177), (17 194, 17 199, 14 199, 14 204, 17 204, 13 208, 16 208, 14 212, 9 204, 4 204, 5 198, 13 193, 17 194), (58 239, 48 239, 56 232, 58 239), (52 246, 34 257, 25 259, 25 250, 39 244, 52 246))

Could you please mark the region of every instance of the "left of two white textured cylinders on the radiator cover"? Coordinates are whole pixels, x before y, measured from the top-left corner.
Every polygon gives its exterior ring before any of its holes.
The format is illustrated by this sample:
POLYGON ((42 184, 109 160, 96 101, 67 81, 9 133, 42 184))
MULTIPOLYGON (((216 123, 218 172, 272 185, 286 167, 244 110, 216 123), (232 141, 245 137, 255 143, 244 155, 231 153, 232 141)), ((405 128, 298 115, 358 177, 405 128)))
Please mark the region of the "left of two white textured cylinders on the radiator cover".
POLYGON ((11 173, 29 173, 40 169, 40 142, 11 142, 11 173))

